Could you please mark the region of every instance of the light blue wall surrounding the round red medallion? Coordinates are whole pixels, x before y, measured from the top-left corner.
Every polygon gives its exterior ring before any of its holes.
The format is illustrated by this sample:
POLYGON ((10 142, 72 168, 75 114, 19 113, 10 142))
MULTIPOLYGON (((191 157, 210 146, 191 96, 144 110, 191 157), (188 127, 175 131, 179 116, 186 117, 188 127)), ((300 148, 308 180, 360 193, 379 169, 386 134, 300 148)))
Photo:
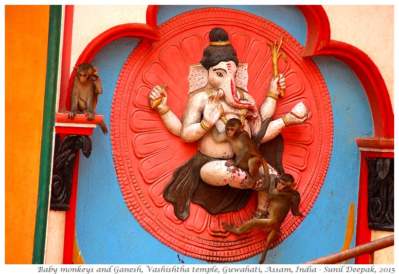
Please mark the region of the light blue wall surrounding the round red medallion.
MULTIPOLYGON (((196 7, 160 6, 158 24, 196 7)), ((285 28, 301 44, 305 43, 306 22, 293 6, 232 7, 267 18, 285 28)), ((108 128, 119 73, 139 42, 138 39, 118 39, 92 60, 93 65, 99 67, 104 90, 99 96, 97 112, 104 115, 108 128)), ((334 58, 313 60, 324 76, 331 97, 334 119, 331 161, 325 183, 309 214, 289 237, 268 253, 265 263, 269 264, 297 264, 342 249, 349 207, 351 203, 356 205, 358 199, 360 153, 355 139, 373 135, 369 104, 355 74, 334 58)), ((109 135, 104 136, 96 128, 91 140, 91 157, 80 158, 76 208, 76 237, 85 263, 178 264, 178 253, 145 231, 128 210, 116 177, 109 135)), ((354 240, 353 237, 351 246, 354 240)), ((179 256, 185 264, 206 263, 179 256)), ((238 263, 256 264, 259 257, 238 263)))

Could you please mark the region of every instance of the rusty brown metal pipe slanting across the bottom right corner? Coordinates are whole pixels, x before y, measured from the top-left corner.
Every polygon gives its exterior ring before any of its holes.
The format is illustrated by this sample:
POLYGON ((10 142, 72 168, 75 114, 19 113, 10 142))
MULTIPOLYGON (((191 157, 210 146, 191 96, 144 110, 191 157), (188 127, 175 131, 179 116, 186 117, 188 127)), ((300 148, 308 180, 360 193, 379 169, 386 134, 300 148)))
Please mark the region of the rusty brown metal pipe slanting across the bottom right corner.
POLYGON ((335 264, 394 245, 394 235, 358 245, 302 264, 335 264))

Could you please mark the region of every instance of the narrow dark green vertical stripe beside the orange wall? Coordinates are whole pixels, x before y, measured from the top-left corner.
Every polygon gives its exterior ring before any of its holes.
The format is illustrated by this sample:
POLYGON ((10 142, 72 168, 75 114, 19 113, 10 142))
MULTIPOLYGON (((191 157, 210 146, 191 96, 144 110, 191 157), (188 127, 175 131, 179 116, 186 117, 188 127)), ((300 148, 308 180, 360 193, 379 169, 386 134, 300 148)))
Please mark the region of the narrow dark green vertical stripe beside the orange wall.
POLYGON ((47 46, 46 88, 44 91, 43 128, 40 150, 39 189, 37 194, 35 239, 33 245, 33 264, 44 263, 46 247, 47 217, 53 158, 53 134, 55 125, 55 105, 59 49, 61 41, 62 6, 50 5, 49 41, 47 46))

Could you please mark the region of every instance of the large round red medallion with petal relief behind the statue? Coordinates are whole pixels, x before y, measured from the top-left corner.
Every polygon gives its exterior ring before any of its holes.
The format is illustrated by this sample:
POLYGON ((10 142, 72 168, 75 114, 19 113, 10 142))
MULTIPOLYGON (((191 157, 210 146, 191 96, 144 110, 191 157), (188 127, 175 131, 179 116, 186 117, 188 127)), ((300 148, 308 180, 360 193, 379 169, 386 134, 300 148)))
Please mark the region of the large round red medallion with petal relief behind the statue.
MULTIPOLYGON (((249 63, 248 90, 260 105, 272 77, 271 53, 267 42, 285 36, 281 50, 288 62, 279 68, 287 82, 285 96, 278 100, 275 118, 302 101, 310 110, 308 122, 286 128, 283 165, 299 182, 299 210, 306 214, 324 182, 332 147, 332 110, 323 77, 316 65, 301 57, 303 47, 289 33, 266 19, 223 8, 200 9, 163 23, 160 41, 143 41, 125 63, 114 92, 111 110, 111 142, 114 163, 127 205, 140 224, 174 250, 208 261, 246 259, 263 250, 266 234, 252 231, 243 236, 226 232, 221 223, 252 218, 256 193, 241 210, 210 215, 191 203, 189 217, 174 216, 162 191, 173 171, 196 151, 195 143, 182 143, 151 110, 148 94, 155 85, 168 84, 168 105, 182 117, 188 95, 188 66, 199 62, 209 44, 212 27, 223 27, 240 62, 249 63), (218 19, 215 19, 218 18, 218 19)), ((291 214, 282 224, 280 243, 302 219, 291 214)))

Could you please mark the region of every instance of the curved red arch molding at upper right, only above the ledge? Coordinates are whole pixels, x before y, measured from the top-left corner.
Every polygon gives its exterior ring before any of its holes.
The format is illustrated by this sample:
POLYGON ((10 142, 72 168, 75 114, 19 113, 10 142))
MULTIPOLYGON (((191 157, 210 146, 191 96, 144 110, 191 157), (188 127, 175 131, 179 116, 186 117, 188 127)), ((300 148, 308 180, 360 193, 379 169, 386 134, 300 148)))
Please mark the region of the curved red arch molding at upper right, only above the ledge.
POLYGON ((366 92, 378 138, 394 138, 394 114, 385 81, 376 64, 358 48, 330 40, 330 27, 322 6, 297 5, 308 23, 304 56, 331 56, 345 62, 366 92))

